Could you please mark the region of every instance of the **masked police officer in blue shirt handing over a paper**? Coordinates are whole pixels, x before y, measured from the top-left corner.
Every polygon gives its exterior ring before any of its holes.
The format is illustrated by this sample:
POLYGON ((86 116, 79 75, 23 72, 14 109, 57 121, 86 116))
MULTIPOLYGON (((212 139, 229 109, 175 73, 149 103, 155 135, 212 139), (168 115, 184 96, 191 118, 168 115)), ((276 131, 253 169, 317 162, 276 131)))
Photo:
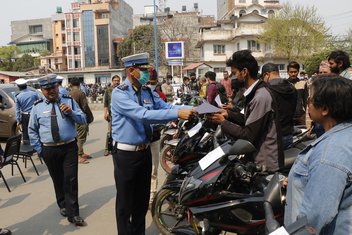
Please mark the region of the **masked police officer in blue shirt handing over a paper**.
POLYGON ((127 79, 111 95, 116 220, 119 235, 144 235, 150 197, 152 124, 194 116, 193 106, 172 106, 144 85, 149 53, 122 58, 127 79), (131 220, 130 220, 131 218, 131 220))

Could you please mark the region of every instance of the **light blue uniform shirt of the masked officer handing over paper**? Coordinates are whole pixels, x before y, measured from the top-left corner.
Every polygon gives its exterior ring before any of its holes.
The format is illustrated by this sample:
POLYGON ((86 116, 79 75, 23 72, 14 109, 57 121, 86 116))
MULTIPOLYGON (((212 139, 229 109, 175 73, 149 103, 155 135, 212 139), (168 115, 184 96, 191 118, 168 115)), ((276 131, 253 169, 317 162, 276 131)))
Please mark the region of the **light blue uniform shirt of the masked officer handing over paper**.
POLYGON ((138 94, 126 79, 116 87, 111 94, 111 132, 116 142, 141 145, 149 143, 146 137, 144 124, 167 123, 178 118, 178 110, 192 109, 193 106, 180 106, 165 103, 156 92, 154 102, 146 87, 143 87, 139 105, 138 94))

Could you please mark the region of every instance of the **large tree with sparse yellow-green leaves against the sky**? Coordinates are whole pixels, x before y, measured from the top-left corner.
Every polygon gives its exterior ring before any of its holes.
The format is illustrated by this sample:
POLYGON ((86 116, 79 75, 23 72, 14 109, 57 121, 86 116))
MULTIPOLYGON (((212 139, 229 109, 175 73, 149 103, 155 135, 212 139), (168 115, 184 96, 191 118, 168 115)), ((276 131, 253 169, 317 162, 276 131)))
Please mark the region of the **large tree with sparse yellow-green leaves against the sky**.
POLYGON ((288 62, 303 61, 326 49, 331 39, 329 29, 316 7, 288 1, 278 13, 268 17, 256 41, 270 45, 275 56, 287 58, 288 62))

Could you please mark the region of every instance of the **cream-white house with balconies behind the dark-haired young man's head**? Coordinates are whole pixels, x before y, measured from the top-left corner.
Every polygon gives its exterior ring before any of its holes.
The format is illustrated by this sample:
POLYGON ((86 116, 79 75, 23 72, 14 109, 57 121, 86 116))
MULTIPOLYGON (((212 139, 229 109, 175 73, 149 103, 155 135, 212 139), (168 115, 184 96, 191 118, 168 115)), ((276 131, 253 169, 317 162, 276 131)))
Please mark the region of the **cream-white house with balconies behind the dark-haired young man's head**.
MULTIPOLYGON (((201 29, 200 40, 196 45, 200 49, 200 61, 213 67, 209 70, 217 73, 220 79, 223 77, 222 72, 231 70, 226 67, 226 58, 236 51, 249 49, 258 62, 259 71, 263 64, 271 62, 277 64, 282 78, 288 78, 287 59, 273 56, 268 45, 254 40, 254 35, 258 34, 267 19, 260 14, 249 13, 233 20, 219 20, 217 27, 201 29)), ((302 62, 300 65, 304 69, 302 62)))

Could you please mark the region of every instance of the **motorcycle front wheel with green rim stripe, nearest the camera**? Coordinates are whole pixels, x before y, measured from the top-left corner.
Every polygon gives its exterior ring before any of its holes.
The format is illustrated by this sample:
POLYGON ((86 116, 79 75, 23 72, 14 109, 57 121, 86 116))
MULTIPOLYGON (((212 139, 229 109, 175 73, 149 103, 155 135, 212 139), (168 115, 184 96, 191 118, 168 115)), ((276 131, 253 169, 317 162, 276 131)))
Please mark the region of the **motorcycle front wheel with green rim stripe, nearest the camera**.
POLYGON ((178 225, 188 224, 186 212, 180 214, 182 217, 176 216, 178 209, 182 208, 178 204, 179 191, 175 189, 165 188, 159 190, 152 203, 151 214, 156 227, 165 235, 170 233, 170 229, 178 225), (165 202, 165 204, 164 204, 165 202))

